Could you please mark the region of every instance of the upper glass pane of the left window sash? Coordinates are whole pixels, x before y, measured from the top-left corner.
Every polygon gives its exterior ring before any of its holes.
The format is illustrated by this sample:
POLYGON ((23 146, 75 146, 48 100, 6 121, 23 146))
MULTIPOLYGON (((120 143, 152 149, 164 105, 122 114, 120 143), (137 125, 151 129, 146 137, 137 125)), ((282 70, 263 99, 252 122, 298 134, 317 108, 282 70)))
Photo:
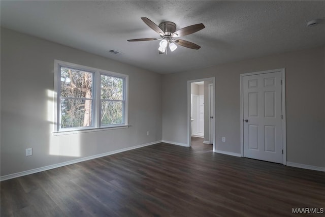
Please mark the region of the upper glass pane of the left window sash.
POLYGON ((61 97, 92 98, 93 73, 61 67, 61 97))

